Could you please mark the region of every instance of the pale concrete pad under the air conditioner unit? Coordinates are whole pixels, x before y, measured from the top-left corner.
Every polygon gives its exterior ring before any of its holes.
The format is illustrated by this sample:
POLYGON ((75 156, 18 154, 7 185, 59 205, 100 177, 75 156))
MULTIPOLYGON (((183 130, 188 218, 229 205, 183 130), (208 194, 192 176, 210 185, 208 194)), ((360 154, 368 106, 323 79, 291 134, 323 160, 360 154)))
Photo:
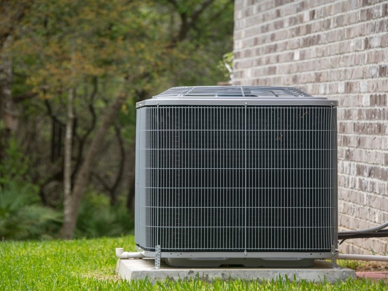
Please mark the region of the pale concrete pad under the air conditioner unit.
POLYGON ((327 282, 334 283, 336 281, 346 280, 348 277, 356 278, 355 271, 347 268, 332 269, 331 263, 323 260, 316 260, 312 268, 176 268, 169 267, 161 263, 161 268, 155 270, 154 259, 119 259, 117 261, 116 272, 121 278, 126 280, 145 279, 146 277, 152 283, 165 279, 187 280, 190 278, 198 278, 211 282, 214 279, 227 280, 243 279, 243 280, 258 280, 276 279, 279 275, 283 278, 287 275, 290 280, 293 280, 294 275, 296 281, 307 280, 313 282, 321 282, 326 278, 327 282))

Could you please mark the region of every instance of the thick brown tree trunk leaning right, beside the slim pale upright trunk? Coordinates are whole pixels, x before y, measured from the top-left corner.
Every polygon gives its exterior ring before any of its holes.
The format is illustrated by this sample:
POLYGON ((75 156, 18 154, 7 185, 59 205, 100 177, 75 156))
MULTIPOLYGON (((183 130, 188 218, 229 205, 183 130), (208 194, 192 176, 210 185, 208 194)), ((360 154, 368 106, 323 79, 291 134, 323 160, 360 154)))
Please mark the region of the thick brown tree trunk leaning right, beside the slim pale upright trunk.
POLYGON ((65 239, 73 238, 74 230, 78 220, 78 210, 80 207, 82 195, 85 192, 86 186, 89 182, 93 162, 97 159, 102 141, 125 99, 126 95, 123 93, 112 102, 111 106, 108 108, 102 119, 101 125, 93 137, 92 143, 87 150, 83 162, 81 163, 74 182, 73 191, 71 193, 69 211, 65 212, 65 222, 63 226, 65 239))

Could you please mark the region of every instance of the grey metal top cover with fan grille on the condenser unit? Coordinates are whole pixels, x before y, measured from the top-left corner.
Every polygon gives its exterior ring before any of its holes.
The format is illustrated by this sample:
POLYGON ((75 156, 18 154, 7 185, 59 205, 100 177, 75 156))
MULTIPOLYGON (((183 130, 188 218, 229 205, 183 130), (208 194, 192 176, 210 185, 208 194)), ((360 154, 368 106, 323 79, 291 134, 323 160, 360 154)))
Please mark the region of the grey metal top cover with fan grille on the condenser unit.
POLYGON ((312 97, 292 87, 195 86, 173 87, 136 107, 155 105, 318 105, 338 106, 326 97, 312 97))

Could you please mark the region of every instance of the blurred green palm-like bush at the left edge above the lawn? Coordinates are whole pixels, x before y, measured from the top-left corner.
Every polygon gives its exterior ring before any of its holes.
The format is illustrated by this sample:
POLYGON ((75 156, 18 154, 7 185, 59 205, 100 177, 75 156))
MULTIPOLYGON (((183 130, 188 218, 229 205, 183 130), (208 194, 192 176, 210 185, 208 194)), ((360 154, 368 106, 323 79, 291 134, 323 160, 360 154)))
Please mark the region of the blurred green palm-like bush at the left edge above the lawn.
POLYGON ((29 157, 15 138, 9 138, 0 162, 0 239, 49 239, 62 223, 60 212, 38 203, 29 169, 29 157))

